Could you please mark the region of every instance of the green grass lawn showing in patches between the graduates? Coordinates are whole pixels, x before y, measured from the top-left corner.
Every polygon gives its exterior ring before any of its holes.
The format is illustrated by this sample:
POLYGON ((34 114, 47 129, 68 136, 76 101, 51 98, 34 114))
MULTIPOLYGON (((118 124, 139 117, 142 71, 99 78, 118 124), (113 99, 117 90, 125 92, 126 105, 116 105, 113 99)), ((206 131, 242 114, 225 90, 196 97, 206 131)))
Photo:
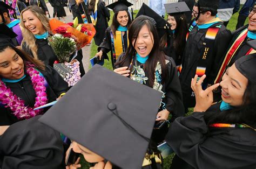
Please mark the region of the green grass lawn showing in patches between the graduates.
MULTIPOLYGON (((134 11, 135 13, 138 12, 138 10, 134 11)), ((111 19, 109 21, 109 25, 111 24, 112 22, 112 16, 113 16, 113 12, 111 11, 111 19)), ((134 15, 136 16, 136 15, 134 15)), ((234 31, 235 30, 235 26, 237 25, 237 18, 238 18, 238 12, 235 13, 232 18, 230 19, 230 22, 228 23, 227 25, 227 29, 231 30, 231 31, 234 31)), ((248 19, 246 20, 245 24, 248 24, 248 19)), ((95 56, 95 54, 97 53, 97 46, 95 45, 94 41, 92 43, 92 46, 91 46, 91 57, 95 56)), ((111 57, 110 56, 110 52, 108 53, 109 55, 109 58, 111 57)), ((104 63, 104 67, 108 68, 108 69, 111 69, 112 70, 112 64, 111 64, 111 59, 109 59, 109 61, 105 60, 105 63, 104 63)), ((190 109, 190 111, 188 112, 187 115, 190 115, 191 113, 193 112, 193 109, 190 109)), ((171 154, 169 157, 165 158, 164 159, 164 168, 170 168, 170 165, 172 163, 172 158, 174 157, 174 153, 171 154)), ((81 164, 82 164, 82 168, 89 168, 90 167, 90 164, 86 163, 86 161, 84 160, 83 157, 81 157, 81 160, 80 160, 81 164)))

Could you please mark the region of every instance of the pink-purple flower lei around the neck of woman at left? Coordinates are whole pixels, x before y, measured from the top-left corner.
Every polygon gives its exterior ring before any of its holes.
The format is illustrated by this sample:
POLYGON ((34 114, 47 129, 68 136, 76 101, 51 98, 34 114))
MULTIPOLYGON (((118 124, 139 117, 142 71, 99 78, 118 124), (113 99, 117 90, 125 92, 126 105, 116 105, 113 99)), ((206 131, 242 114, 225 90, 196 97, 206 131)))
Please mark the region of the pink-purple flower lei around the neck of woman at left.
MULTIPOLYGON (((29 74, 33 89, 36 91, 35 108, 44 105, 48 102, 46 87, 44 86, 44 78, 39 75, 35 69, 35 65, 26 62, 26 72, 29 74)), ((42 109, 33 110, 33 108, 25 106, 24 101, 12 93, 9 87, 6 87, 4 82, 0 79, 0 102, 9 107, 13 114, 18 119, 29 119, 38 114, 41 114, 42 109)))

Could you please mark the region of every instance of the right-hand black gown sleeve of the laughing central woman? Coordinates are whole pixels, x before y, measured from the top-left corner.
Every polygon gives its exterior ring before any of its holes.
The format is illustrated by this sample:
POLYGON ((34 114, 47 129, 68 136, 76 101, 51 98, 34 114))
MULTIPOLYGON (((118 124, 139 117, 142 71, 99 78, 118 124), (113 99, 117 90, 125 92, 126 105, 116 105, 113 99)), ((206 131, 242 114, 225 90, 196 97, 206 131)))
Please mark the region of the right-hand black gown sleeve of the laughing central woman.
POLYGON ((167 68, 169 76, 165 87, 166 109, 171 112, 171 121, 173 121, 176 117, 184 116, 185 112, 178 72, 172 58, 169 58, 167 68))

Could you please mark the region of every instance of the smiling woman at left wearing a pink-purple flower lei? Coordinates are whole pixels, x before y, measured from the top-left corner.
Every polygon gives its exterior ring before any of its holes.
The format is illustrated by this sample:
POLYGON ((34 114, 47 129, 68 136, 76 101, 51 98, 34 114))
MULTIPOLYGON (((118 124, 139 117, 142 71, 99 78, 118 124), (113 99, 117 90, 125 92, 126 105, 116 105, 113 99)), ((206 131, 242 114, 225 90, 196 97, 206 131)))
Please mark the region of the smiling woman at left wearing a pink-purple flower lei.
POLYGON ((68 84, 50 66, 0 38, 0 125, 11 125, 42 114, 33 108, 55 101, 68 84))

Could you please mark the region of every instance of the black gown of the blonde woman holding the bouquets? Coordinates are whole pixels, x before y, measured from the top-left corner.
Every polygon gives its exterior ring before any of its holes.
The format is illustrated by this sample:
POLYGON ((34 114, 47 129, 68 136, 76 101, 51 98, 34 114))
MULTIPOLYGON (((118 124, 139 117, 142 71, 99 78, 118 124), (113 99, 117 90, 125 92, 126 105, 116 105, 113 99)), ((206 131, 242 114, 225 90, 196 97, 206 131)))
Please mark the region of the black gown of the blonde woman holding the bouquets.
MULTIPOLYGON (((45 65, 49 65, 49 66, 53 67, 53 63, 56 60, 58 60, 58 58, 55 55, 52 47, 48 44, 48 40, 47 39, 36 39, 36 44, 38 46, 38 50, 37 50, 38 59, 42 60, 45 65)), ((29 47, 26 46, 25 43, 23 44, 22 48, 24 51, 30 53, 31 56, 33 56, 31 50, 29 49, 29 47)), ((80 73, 81 73, 81 76, 83 76, 85 74, 85 71, 84 71, 84 66, 83 66, 83 62, 82 62, 82 59, 83 59, 82 50, 79 50, 77 52, 77 56, 75 59, 80 62, 80 65, 79 65, 80 73)))

